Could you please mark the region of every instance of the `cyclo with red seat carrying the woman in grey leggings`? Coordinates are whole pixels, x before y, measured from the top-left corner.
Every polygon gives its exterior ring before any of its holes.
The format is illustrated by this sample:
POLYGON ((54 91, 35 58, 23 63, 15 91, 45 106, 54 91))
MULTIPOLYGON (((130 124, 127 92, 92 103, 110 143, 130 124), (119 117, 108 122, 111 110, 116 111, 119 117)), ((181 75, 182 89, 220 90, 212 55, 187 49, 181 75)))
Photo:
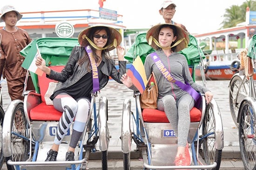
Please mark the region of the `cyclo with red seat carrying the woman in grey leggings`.
MULTIPOLYGON (((135 36, 133 46, 128 50, 125 58, 131 63, 140 56, 144 63, 145 57, 154 52, 148 45, 146 32, 135 36)), ((205 58, 197 40, 189 35, 188 48, 180 51, 186 58, 195 81, 195 69, 202 75, 202 84, 206 85, 203 68, 205 58)), ((135 151, 143 159, 143 169, 213 169, 218 170, 221 164, 222 149, 224 146, 222 119, 219 107, 213 99, 206 105, 205 96, 201 94, 198 108, 190 111, 190 128, 188 143, 192 151, 190 166, 175 166, 177 138, 164 112, 157 109, 141 109, 140 92, 134 92, 136 111, 131 110, 131 100, 123 102, 121 147, 123 152, 124 169, 130 168, 130 152, 132 141, 135 142, 135 151)))

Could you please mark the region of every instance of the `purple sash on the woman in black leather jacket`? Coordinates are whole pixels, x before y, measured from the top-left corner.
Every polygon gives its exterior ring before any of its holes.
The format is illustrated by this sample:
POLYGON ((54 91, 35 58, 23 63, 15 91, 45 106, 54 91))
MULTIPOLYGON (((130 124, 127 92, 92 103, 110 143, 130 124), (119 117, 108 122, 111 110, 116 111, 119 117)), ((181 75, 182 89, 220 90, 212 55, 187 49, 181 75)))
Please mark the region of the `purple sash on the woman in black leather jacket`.
POLYGON ((85 50, 87 51, 90 62, 91 62, 91 67, 92 67, 92 71, 93 71, 93 92, 95 93, 96 91, 100 90, 97 64, 96 64, 95 59, 93 57, 93 51, 92 51, 91 47, 87 46, 87 47, 85 47, 85 50))

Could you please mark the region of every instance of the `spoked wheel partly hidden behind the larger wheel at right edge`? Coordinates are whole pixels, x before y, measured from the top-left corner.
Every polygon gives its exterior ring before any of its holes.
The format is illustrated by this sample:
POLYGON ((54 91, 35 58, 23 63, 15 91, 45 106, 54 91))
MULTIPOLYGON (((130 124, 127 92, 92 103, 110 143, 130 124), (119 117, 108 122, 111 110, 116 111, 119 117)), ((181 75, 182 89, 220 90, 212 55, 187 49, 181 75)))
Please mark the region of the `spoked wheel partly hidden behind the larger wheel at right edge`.
POLYGON ((249 96, 249 82, 244 82, 241 86, 242 82, 243 79, 237 75, 232 78, 229 86, 229 108, 236 127, 238 127, 237 115, 241 104, 241 100, 237 101, 237 97, 242 95, 249 96))

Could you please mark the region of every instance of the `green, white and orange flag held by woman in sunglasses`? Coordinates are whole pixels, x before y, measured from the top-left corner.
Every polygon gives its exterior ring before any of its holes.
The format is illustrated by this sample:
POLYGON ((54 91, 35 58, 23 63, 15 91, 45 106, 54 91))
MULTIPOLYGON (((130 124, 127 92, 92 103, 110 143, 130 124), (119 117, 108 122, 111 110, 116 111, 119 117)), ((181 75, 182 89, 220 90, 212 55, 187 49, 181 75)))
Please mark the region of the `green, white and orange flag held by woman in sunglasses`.
POLYGON ((32 42, 31 48, 27 53, 27 57, 25 58, 24 62, 22 63, 21 67, 24 69, 27 69, 38 76, 43 75, 43 71, 40 70, 36 65, 35 65, 35 60, 37 56, 41 56, 40 51, 38 49, 38 46, 36 44, 36 41, 34 40, 32 42))

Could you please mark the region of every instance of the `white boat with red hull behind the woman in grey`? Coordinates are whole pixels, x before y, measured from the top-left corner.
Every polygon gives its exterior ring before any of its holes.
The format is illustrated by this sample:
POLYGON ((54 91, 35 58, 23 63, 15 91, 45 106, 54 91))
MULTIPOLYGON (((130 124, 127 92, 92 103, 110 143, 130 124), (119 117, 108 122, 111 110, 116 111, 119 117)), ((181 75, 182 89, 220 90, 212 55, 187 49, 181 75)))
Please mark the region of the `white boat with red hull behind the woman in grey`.
MULTIPOLYGON (((204 72, 207 79, 230 80, 239 71, 240 61, 236 56, 248 47, 249 39, 256 34, 255 13, 247 7, 245 22, 235 27, 195 35, 200 44, 204 42, 204 45, 207 44, 205 46, 212 50, 205 54, 204 59, 204 72)), ((199 77, 201 77, 200 70, 196 69, 195 78, 199 77)))

